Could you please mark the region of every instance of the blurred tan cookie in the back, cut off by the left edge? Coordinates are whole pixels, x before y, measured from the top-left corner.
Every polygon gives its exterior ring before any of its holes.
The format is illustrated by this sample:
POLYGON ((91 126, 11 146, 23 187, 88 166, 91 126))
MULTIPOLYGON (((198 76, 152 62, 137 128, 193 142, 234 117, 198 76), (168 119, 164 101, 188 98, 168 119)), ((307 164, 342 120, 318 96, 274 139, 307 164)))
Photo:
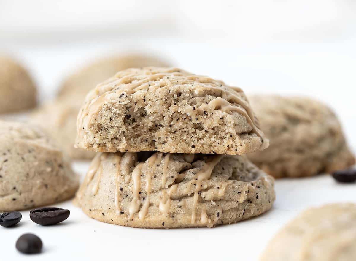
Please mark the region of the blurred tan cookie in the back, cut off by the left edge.
POLYGON ((36 95, 36 86, 25 68, 0 56, 0 113, 33 108, 36 95))

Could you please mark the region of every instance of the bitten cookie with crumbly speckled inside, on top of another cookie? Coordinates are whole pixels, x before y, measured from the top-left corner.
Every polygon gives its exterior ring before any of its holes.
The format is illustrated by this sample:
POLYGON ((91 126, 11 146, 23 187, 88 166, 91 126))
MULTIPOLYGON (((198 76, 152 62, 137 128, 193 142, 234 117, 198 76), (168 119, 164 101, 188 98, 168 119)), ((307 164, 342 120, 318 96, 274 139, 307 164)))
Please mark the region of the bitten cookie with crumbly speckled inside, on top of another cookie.
POLYGON ((90 91, 76 145, 95 152, 245 154, 268 147, 244 92, 179 68, 118 72, 90 91))

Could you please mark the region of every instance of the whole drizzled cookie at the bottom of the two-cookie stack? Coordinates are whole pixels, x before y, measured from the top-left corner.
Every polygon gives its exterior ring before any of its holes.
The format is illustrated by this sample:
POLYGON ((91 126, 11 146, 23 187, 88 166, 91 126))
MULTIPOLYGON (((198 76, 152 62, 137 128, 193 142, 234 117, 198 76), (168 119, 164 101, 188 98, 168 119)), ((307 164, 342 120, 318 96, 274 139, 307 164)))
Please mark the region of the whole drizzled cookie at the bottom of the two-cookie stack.
POLYGON ((77 192, 91 218, 131 227, 213 227, 261 215, 274 180, 242 155, 98 153, 77 192))

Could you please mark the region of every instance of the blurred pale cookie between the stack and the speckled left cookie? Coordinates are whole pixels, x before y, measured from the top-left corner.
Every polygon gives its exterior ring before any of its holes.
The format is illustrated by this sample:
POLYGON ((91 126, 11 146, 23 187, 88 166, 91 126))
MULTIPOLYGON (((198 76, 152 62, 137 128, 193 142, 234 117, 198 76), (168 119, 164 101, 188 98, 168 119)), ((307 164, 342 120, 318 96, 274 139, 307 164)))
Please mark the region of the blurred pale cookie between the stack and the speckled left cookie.
POLYGON ((94 152, 74 148, 75 122, 81 104, 82 97, 77 95, 57 98, 33 112, 31 121, 51 134, 71 158, 88 160, 94 158, 94 152))

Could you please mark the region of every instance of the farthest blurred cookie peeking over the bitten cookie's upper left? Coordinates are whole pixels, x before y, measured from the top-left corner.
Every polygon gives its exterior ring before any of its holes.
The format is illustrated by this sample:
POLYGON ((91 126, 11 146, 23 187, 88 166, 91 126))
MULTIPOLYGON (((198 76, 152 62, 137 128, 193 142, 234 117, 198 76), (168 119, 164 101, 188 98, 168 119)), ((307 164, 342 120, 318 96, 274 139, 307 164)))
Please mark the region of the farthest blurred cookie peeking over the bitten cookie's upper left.
POLYGON ((58 96, 79 94, 84 99, 98 83, 115 75, 118 71, 132 67, 167 66, 167 62, 146 55, 122 55, 102 58, 73 73, 61 86, 58 96))

